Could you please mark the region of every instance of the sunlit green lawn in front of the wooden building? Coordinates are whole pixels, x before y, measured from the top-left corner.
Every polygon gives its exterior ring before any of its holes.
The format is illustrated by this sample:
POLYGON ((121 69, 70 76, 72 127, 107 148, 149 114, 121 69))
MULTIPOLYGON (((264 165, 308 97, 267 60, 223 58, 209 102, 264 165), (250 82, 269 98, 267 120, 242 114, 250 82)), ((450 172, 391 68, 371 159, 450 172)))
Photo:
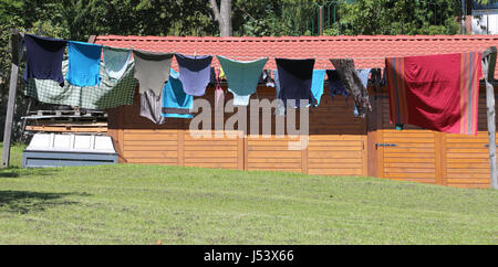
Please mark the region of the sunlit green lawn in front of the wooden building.
POLYGON ((498 244, 498 192, 116 164, 0 170, 0 244, 498 244))

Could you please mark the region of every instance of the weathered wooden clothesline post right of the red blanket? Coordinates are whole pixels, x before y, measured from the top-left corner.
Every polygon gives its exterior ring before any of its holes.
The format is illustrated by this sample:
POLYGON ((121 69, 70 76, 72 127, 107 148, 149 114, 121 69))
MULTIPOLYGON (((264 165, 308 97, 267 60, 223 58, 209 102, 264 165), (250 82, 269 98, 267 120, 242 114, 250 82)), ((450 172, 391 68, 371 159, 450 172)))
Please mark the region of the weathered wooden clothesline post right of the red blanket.
POLYGON ((495 66, 496 66, 496 46, 491 46, 483 52, 483 72, 486 82, 486 108, 488 120, 489 139, 489 167, 491 174, 491 188, 498 189, 497 169, 496 169, 496 118, 495 118, 495 66))

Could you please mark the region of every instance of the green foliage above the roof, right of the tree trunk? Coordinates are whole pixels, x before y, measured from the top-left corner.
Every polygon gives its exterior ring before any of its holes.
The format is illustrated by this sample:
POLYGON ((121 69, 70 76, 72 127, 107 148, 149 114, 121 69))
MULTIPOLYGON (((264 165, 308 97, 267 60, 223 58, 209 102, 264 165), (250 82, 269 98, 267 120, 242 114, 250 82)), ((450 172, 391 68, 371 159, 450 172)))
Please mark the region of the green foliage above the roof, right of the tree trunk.
POLYGON ((324 35, 456 34, 455 0, 237 0, 236 35, 317 35, 323 8, 324 35))

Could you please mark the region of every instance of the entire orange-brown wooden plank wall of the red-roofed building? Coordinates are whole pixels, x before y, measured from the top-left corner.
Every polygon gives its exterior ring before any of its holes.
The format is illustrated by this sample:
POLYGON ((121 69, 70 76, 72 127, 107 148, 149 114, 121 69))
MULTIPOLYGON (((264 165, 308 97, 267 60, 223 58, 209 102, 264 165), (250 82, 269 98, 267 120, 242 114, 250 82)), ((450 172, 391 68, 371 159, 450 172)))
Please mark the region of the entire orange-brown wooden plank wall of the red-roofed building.
MULTIPOLYGON (((201 98, 214 104, 212 88, 201 98)), ((424 182, 461 188, 489 188, 489 157, 486 147, 486 95, 481 87, 477 136, 464 136, 406 126, 395 130, 390 124, 385 88, 371 88, 373 111, 366 119, 353 116, 353 102, 332 98, 324 89, 318 108, 310 108, 308 140, 286 132, 236 138, 194 138, 189 119, 168 119, 155 125, 139 116, 139 95, 132 106, 108 110, 108 134, 115 141, 120 162, 175 164, 238 170, 269 170, 323 175, 371 175, 390 180, 424 182), (292 150, 289 141, 303 150, 292 150), (386 146, 383 145, 395 145, 386 146)), ((226 100, 231 98, 228 95, 226 100)), ((274 99, 274 88, 258 87, 256 97, 274 99)), ((225 113, 227 122, 234 113, 225 113)), ((248 111, 250 132, 250 109, 248 111)), ((262 115, 259 117, 262 129, 262 115)), ((215 127, 215 115, 211 117, 215 127)), ((239 134, 236 128, 231 134, 239 134)), ((225 132, 230 134, 230 132, 225 132)))

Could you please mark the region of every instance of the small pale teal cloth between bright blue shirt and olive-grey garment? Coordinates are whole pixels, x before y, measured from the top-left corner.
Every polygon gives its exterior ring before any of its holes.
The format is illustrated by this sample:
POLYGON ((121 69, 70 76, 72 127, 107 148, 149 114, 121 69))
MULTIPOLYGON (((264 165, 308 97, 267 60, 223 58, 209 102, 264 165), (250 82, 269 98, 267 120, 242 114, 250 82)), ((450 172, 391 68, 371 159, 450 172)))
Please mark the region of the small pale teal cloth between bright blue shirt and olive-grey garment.
POLYGON ((111 78, 120 79, 126 71, 127 62, 132 57, 132 51, 104 46, 104 65, 111 78))

